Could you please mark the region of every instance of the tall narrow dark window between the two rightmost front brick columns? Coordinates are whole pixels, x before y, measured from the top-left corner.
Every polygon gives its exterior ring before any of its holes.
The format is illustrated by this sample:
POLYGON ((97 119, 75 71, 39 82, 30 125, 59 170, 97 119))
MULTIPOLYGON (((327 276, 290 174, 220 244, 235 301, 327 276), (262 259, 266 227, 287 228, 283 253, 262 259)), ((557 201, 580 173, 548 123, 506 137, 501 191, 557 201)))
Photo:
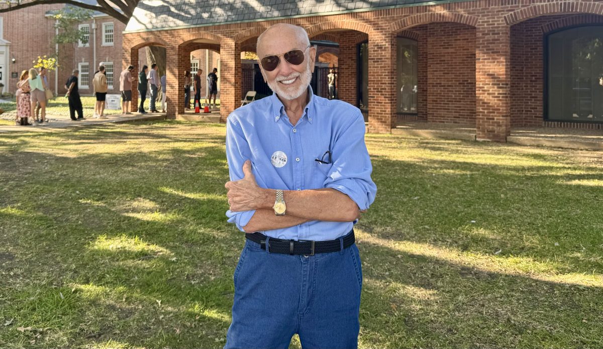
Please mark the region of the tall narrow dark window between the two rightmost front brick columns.
POLYGON ((396 52, 397 112, 417 113, 417 61, 415 40, 399 37, 396 52))

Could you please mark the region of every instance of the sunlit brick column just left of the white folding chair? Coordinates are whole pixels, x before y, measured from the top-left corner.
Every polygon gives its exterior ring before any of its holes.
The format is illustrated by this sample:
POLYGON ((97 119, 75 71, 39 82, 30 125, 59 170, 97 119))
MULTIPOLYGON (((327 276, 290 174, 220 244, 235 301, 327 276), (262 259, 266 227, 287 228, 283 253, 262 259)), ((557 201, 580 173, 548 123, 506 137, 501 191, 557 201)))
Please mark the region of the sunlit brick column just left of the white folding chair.
POLYGON ((220 122, 241 105, 241 49, 232 39, 220 43, 220 122))

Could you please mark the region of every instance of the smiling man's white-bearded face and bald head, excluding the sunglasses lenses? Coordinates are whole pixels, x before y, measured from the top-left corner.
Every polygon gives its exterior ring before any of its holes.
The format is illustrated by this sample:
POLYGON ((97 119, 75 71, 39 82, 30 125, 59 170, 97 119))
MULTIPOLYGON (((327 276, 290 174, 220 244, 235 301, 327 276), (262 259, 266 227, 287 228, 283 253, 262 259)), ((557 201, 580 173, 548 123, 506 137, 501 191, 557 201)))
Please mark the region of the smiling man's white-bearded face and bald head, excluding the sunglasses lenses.
POLYGON ((279 56, 279 65, 273 71, 266 71, 261 63, 259 65, 264 80, 280 98, 292 100, 308 89, 316 59, 316 49, 308 46, 306 31, 289 24, 273 25, 258 39, 257 57, 260 60, 267 55, 279 56), (294 49, 304 52, 304 60, 299 65, 291 64, 283 57, 285 52, 294 49))

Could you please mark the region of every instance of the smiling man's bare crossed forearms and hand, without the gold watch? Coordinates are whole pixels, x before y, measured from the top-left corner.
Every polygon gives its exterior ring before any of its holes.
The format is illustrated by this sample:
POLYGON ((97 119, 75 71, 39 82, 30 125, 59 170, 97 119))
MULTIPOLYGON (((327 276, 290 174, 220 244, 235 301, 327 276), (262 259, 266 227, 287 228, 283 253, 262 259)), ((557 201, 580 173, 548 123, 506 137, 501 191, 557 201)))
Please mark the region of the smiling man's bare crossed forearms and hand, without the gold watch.
POLYGON ((332 188, 310 190, 285 190, 287 205, 285 216, 274 215, 272 206, 276 199, 275 189, 257 186, 251 172, 251 162, 243 165, 245 177, 238 181, 229 181, 228 189, 230 210, 234 212, 256 210, 245 232, 294 227, 308 221, 352 222, 360 218, 361 210, 346 194, 332 188))

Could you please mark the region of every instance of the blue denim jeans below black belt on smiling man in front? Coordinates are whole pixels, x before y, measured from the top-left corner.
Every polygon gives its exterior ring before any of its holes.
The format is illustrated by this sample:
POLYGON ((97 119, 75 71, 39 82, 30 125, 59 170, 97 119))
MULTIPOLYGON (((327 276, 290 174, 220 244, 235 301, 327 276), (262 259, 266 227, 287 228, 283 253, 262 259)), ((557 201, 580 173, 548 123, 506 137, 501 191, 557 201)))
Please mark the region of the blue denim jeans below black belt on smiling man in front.
POLYGON ((358 348, 362 268, 358 248, 314 256, 268 253, 246 241, 235 269, 225 349, 358 348))

